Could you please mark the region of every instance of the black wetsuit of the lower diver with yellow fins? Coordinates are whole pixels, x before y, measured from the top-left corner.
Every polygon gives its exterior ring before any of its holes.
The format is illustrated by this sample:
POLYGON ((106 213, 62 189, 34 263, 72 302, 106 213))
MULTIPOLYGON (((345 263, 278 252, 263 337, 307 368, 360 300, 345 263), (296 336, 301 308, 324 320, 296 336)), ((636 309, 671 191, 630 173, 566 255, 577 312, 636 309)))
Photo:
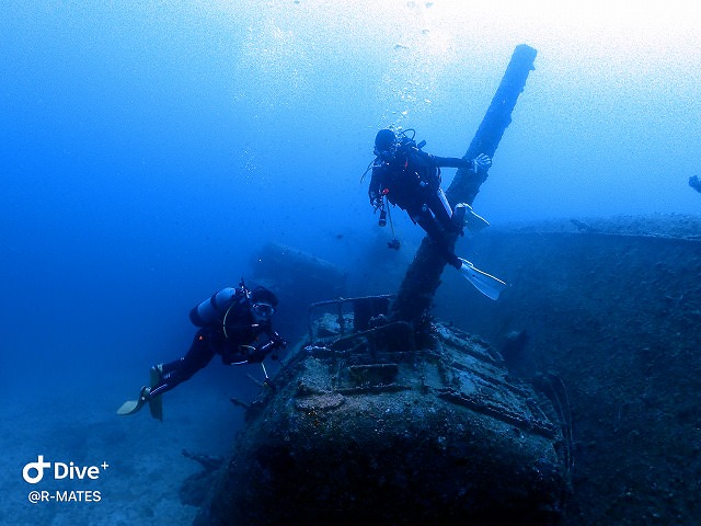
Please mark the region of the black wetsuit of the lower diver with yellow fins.
POLYGON ((263 333, 271 338, 274 333, 272 324, 269 320, 255 323, 248 304, 235 308, 237 311, 230 312, 227 317, 226 333, 223 323, 219 320, 203 327, 195 334, 185 356, 163 364, 161 380, 151 389, 151 397, 162 395, 188 380, 195 373, 209 364, 216 354, 221 356, 221 362, 226 365, 262 362, 264 356, 255 351, 250 352, 252 350, 246 346, 252 346, 263 333))

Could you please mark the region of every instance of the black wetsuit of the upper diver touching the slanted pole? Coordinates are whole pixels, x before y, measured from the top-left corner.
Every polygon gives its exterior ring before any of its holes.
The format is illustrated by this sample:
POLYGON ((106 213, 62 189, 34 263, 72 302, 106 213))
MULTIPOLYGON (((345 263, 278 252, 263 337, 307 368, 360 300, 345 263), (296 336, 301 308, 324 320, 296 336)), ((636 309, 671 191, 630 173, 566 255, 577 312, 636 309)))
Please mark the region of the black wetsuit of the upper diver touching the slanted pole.
POLYGON ((440 167, 472 168, 473 161, 435 157, 413 146, 403 146, 389 161, 372 167, 368 195, 370 203, 387 201, 407 211, 433 239, 444 259, 456 268, 461 261, 450 250, 446 233, 458 233, 462 226, 452 220, 452 210, 440 188, 440 167))

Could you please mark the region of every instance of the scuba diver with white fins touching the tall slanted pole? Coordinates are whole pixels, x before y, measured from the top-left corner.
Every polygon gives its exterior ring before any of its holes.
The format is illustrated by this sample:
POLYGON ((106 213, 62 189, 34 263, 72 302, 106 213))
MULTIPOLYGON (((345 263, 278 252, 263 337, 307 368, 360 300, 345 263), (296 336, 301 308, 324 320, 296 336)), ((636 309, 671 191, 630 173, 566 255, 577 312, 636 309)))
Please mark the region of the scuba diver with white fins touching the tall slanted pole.
MULTIPOLYGON (((476 231, 489 226, 489 222, 467 203, 458 204, 453 211, 440 187, 440 168, 464 168, 483 174, 492 165, 492 159, 484 153, 475 159, 436 157, 422 150, 426 141, 417 145, 415 135, 414 129, 399 134, 380 129, 375 137, 376 159, 366 173, 372 170, 368 196, 375 211, 380 210, 379 225, 387 222, 389 208, 386 208, 386 202, 406 210, 411 220, 418 224, 434 241, 448 264, 460 271, 482 294, 497 299, 506 284, 458 258, 449 240, 452 235, 461 236, 463 227, 476 231), (407 135, 410 132, 411 136, 407 135)), ((399 241, 393 239, 388 245, 399 249, 399 241)))

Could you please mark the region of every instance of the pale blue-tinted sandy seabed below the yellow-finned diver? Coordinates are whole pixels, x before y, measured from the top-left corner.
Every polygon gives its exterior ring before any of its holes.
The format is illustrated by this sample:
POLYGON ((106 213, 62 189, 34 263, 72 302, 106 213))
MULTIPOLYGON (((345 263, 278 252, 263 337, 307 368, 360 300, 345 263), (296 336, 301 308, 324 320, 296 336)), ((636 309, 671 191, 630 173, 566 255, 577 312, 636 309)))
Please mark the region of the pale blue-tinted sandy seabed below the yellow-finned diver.
MULTIPOLYGON (((202 467, 182 451, 228 453, 242 422, 241 409, 229 401, 237 396, 235 387, 208 386, 206 375, 193 378, 165 395, 163 423, 152 420, 147 409, 130 416, 115 414, 128 398, 124 393, 134 387, 111 387, 90 401, 74 389, 77 386, 65 386, 62 392, 50 396, 34 395, 13 403, 5 400, 0 410, 4 424, 0 434, 0 524, 192 524, 198 508, 183 504, 180 491, 185 479, 202 467), (38 455, 54 466, 45 470, 43 480, 30 484, 22 471, 38 455), (56 480, 56 462, 97 466, 99 478, 56 480), (103 462, 106 469, 100 467, 103 462), (32 491, 73 499, 34 504, 30 502, 32 491), (88 495, 92 502, 84 502, 88 495)), ((60 471, 61 476, 66 472, 62 467, 60 471)))

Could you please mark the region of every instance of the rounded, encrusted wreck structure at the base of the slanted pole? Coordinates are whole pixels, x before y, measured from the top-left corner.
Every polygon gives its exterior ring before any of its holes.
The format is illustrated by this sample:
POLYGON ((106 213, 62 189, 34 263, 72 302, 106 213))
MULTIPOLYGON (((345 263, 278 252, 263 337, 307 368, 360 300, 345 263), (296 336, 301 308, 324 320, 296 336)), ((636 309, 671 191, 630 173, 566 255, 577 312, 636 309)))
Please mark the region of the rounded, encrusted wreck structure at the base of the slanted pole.
POLYGON ((317 324, 246 412, 200 524, 556 524, 561 426, 485 344, 317 324), (334 334, 334 328, 337 331, 334 334))

